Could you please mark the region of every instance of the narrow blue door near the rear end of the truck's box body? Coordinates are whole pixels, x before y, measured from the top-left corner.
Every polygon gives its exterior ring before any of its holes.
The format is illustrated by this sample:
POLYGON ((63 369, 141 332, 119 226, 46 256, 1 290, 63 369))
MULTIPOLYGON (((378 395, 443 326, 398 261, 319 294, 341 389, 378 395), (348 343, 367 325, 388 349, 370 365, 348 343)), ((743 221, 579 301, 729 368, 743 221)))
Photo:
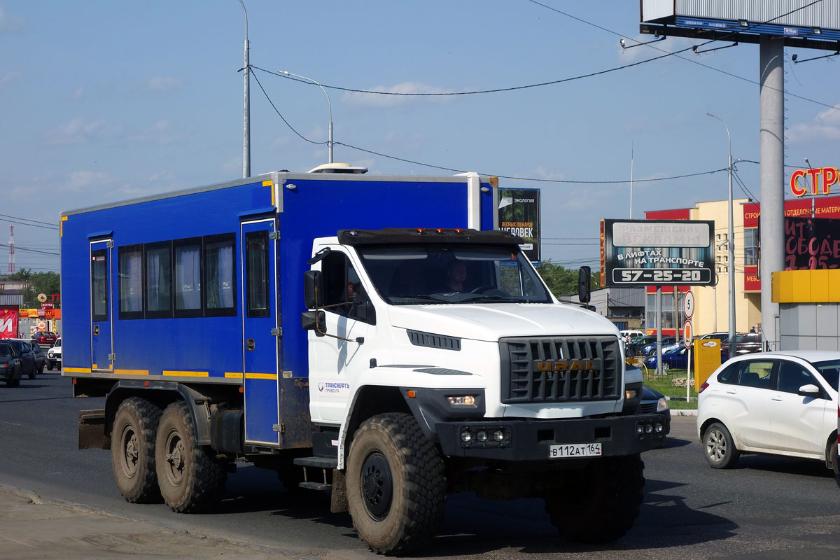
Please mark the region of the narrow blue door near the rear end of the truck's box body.
POLYGON ((113 240, 91 242, 91 369, 113 372, 113 240))

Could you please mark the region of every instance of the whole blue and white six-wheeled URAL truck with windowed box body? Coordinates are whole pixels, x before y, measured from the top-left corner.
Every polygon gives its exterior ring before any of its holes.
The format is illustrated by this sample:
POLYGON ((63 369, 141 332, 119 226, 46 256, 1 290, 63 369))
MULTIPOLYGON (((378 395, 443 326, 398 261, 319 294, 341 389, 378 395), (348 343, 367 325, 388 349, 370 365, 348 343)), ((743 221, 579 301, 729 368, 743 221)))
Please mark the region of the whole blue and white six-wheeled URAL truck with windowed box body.
POLYGON ((475 173, 273 172, 64 212, 63 375, 106 397, 79 447, 179 512, 238 462, 274 469, 386 554, 461 491, 622 536, 667 427, 638 413, 617 328, 554 298, 498 204, 475 173))

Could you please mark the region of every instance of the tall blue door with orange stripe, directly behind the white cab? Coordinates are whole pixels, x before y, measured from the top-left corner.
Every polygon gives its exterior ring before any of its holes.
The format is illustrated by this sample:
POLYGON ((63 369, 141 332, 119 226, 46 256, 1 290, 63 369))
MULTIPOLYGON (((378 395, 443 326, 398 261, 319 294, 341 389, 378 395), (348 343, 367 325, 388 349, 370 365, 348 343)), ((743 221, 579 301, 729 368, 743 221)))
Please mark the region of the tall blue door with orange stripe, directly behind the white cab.
POLYGON ((274 219, 242 222, 242 346, 245 442, 280 444, 274 219))

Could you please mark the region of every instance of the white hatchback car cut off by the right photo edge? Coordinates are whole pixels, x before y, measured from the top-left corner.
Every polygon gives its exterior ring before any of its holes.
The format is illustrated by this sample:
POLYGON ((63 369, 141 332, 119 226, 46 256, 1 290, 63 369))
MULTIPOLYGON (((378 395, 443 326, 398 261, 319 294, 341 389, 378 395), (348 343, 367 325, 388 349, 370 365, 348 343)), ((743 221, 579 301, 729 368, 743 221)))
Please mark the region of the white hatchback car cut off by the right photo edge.
POLYGON ((838 377, 840 352, 750 353, 722 364, 697 397, 706 461, 732 468, 741 453, 811 458, 840 477, 838 377))

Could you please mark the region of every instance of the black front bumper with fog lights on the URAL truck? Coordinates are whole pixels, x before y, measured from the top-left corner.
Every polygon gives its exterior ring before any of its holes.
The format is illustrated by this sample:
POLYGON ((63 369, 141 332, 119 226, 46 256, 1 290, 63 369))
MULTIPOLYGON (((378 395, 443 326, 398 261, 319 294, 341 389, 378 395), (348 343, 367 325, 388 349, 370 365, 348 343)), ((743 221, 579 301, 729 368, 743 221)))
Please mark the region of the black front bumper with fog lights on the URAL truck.
MULTIPOLYGON (((441 450, 450 457, 484 458, 499 461, 547 461, 552 445, 601 443, 601 457, 642 453, 662 447, 668 427, 657 414, 575 418, 562 420, 499 420, 439 422, 435 424, 441 450), (657 432, 659 425, 661 431, 657 432), (647 428, 651 427, 651 432, 647 428), (638 427, 642 427, 641 435, 638 427), (471 437, 463 442, 461 434, 502 432, 501 442, 479 442, 471 437)), ((551 459, 558 463, 568 459, 551 459)))

